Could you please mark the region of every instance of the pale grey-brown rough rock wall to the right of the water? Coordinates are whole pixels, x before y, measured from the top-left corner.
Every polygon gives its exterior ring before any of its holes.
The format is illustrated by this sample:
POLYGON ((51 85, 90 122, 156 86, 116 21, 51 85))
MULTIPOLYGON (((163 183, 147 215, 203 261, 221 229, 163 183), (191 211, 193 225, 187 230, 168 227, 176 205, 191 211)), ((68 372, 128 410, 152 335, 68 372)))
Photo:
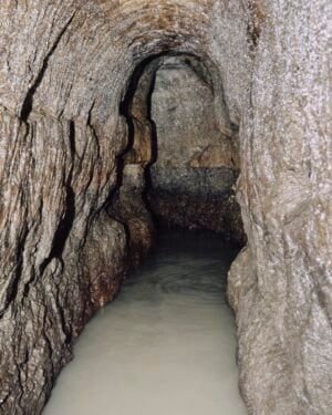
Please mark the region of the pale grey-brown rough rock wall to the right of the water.
POLYGON ((324 1, 262 10, 240 139, 249 240, 229 283, 241 388, 257 414, 332 407, 331 12, 324 1))

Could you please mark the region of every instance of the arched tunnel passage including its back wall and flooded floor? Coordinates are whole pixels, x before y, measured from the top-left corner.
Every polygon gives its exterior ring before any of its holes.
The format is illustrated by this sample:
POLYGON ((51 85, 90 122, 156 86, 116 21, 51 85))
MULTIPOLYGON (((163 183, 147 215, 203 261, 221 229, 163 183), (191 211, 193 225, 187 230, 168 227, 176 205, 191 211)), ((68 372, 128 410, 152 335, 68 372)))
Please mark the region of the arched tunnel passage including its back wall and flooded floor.
POLYGON ((226 303, 227 272, 246 242, 235 198, 239 128, 229 121, 222 89, 215 96, 215 82, 193 54, 162 53, 134 71, 120 105, 127 146, 107 204, 107 215, 126 228, 129 279, 91 323, 103 345, 83 335, 80 344, 87 345, 75 353, 76 370, 69 365, 60 376, 46 414, 89 414, 96 403, 105 413, 108 400, 124 415, 247 413, 226 303), (95 366, 92 390, 84 373, 93 376, 95 366), (86 401, 89 392, 94 397, 86 401))

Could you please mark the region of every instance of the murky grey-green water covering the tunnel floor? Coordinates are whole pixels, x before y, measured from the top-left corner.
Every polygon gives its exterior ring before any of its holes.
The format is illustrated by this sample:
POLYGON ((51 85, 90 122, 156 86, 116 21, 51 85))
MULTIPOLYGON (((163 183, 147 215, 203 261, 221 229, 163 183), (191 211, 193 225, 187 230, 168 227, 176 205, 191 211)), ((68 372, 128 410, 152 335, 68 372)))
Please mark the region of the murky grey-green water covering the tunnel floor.
POLYGON ((214 235, 164 235, 87 324, 44 414, 247 414, 224 299, 235 256, 214 235))

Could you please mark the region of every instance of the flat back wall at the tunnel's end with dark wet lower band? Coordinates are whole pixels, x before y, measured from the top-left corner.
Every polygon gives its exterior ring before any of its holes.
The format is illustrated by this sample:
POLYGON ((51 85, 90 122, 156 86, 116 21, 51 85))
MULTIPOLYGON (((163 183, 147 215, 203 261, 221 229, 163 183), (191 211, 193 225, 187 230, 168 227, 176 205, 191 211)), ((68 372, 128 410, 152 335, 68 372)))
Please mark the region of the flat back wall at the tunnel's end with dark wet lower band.
POLYGON ((158 59, 152 89, 149 208, 164 225, 211 229, 243 243, 234 191, 238 128, 225 104, 216 114, 211 75, 194 56, 165 56, 158 59))

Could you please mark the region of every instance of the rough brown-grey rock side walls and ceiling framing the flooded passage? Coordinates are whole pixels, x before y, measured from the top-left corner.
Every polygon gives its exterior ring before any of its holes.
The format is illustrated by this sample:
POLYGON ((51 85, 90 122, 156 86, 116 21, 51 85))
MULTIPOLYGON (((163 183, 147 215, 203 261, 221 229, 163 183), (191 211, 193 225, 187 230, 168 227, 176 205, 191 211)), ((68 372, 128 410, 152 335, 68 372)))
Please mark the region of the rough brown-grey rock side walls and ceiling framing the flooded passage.
MULTIPOLYGON (((331 9, 329 0, 1 2, 2 414, 42 412, 74 339, 148 252, 151 124, 144 114, 128 123, 121 103, 135 69, 169 52, 204 62, 218 128, 222 108, 239 126, 248 243, 228 297, 248 411, 331 413, 331 9)), ((217 162, 208 147, 190 160, 217 162)))

